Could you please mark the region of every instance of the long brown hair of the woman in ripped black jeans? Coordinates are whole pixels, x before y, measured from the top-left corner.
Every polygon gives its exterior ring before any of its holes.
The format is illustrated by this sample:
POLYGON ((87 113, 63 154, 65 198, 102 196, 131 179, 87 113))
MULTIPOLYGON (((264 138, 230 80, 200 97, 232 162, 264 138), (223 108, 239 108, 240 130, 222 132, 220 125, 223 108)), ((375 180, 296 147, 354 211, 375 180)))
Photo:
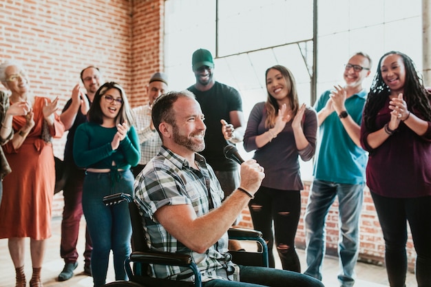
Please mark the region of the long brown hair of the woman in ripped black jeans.
MULTIPOLYGON (((265 83, 266 83, 266 76, 268 76, 269 70, 272 70, 272 69, 280 72, 284 80, 286 80, 286 86, 288 89, 287 96, 289 98, 289 103, 291 103, 290 108, 292 109, 292 116, 294 117, 296 116, 296 113, 299 107, 299 99, 298 99, 298 94, 296 89, 295 78, 293 78, 293 74, 290 70, 288 70, 288 68, 282 65, 274 65, 266 69, 265 83)), ((266 102, 265 102, 265 109, 266 109, 265 127, 271 128, 271 127, 274 127, 275 125, 275 118, 277 118, 279 107, 278 107, 277 100, 275 100, 275 98, 273 98, 273 96, 269 94, 268 87, 266 87, 266 92, 268 96, 266 96, 266 102)))

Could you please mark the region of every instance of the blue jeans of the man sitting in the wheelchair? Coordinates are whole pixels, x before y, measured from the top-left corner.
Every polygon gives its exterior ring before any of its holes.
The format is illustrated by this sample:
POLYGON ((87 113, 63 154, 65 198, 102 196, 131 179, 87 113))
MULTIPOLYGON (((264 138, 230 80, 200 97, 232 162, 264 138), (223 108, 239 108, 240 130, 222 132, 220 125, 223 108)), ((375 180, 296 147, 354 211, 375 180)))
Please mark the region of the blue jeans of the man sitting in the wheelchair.
POLYGON ((202 287, 324 287, 321 281, 293 271, 240 265, 240 281, 215 279, 202 283, 202 287))

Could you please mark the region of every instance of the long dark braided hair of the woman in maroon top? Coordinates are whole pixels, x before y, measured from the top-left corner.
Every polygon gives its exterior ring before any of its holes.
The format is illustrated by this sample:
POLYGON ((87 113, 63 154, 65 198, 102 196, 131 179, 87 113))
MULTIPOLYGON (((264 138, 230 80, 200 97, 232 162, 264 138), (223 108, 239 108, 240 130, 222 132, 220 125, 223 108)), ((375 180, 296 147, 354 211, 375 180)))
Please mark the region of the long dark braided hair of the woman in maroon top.
POLYGON ((403 87, 403 98, 406 100, 407 107, 416 116, 423 120, 431 120, 430 93, 423 87, 423 81, 419 72, 409 56, 398 51, 390 51, 381 56, 377 65, 377 72, 372 80, 370 92, 364 108, 364 124, 370 131, 377 130, 375 126, 376 116, 390 96, 390 89, 383 81, 380 65, 383 58, 390 54, 397 54, 403 59, 406 69, 406 83, 403 87))

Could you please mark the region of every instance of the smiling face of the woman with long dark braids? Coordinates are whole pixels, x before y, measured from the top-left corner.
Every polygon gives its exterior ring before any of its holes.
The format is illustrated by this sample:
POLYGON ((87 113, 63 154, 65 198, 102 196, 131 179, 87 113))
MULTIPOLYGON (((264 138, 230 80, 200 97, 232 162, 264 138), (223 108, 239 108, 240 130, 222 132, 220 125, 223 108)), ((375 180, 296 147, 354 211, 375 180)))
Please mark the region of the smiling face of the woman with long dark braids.
POLYGON ((403 92, 406 83, 406 67, 403 59, 397 54, 388 54, 380 63, 383 82, 390 88, 392 95, 403 92))

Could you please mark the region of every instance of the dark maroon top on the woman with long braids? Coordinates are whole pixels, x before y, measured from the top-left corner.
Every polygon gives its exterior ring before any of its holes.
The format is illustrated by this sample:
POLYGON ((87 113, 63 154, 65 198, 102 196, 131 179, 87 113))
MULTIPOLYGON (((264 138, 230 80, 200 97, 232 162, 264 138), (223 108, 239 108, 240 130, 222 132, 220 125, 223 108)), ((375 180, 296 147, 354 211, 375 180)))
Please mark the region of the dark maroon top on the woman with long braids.
MULTIPOLYGON (((413 111, 412 111, 413 112, 413 111)), ((376 117, 381 129, 390 120, 389 97, 376 117)), ((373 131, 361 125, 361 145, 369 151, 366 168, 370 191, 390 198, 418 198, 431 195, 431 122, 418 136, 403 122, 392 136, 376 149, 366 140, 373 131)))

